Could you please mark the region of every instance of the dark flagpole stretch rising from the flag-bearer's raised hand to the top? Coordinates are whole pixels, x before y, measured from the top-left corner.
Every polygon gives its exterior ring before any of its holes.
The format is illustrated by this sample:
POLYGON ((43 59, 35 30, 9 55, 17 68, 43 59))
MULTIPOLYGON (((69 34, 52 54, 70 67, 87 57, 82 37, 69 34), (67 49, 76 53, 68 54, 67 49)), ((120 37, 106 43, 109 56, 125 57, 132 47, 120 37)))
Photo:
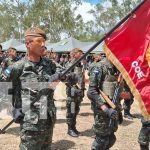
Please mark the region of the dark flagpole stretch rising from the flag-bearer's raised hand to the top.
POLYGON ((106 33, 97 43, 95 43, 86 53, 84 53, 72 66, 65 70, 62 74, 64 76, 70 70, 72 70, 83 58, 85 58, 92 50, 94 50, 100 43, 102 43, 107 36, 109 36, 114 30, 116 30, 122 23, 124 23, 133 13, 139 9, 146 0, 143 0, 139 5, 137 5, 128 15, 126 15, 121 21, 119 21, 108 33, 106 33))

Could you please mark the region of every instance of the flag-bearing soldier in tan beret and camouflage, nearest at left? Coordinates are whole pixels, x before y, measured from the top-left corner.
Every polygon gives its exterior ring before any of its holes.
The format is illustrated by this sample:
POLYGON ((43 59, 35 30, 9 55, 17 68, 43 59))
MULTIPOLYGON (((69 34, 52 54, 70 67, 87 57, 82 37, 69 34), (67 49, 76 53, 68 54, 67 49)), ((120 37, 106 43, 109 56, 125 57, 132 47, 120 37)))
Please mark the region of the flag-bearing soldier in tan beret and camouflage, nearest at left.
POLYGON ((45 51, 45 40, 46 34, 43 30, 37 27, 29 28, 25 32, 28 55, 6 68, 0 76, 2 81, 12 81, 20 87, 14 91, 17 97, 13 110, 14 120, 20 123, 21 128, 20 150, 51 149, 56 116, 54 90, 39 89, 38 85, 42 85, 43 82, 46 84, 53 74, 55 79, 58 79, 59 73, 55 74, 56 65, 51 60, 42 57, 45 51), (23 87, 24 83, 29 85, 23 87), (36 87, 33 83, 37 83, 36 87), (45 97, 46 105, 43 104, 45 97), (46 115, 44 119, 41 118, 41 112, 46 115))

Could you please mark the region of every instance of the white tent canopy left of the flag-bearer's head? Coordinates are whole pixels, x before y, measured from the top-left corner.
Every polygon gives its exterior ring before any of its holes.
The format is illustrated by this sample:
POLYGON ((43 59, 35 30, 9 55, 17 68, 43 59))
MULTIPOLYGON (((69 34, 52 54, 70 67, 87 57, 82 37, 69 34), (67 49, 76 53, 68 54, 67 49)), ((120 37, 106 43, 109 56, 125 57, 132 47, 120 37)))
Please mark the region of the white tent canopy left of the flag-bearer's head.
POLYGON ((22 43, 19 42, 18 40, 16 39, 10 39, 8 41, 5 41, 3 43, 1 43, 2 47, 3 47, 3 50, 7 50, 9 47, 14 47, 16 48, 16 46, 19 46, 21 45, 22 43))

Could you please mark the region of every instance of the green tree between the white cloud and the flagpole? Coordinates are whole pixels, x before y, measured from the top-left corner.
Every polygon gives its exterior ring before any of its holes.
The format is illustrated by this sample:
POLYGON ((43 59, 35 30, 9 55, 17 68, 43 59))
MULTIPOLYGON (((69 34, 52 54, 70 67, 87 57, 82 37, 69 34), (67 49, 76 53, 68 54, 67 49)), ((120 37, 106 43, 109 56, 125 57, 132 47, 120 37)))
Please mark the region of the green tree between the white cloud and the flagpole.
POLYGON ((106 33, 142 0, 105 0, 89 13, 95 17, 93 26, 106 33))

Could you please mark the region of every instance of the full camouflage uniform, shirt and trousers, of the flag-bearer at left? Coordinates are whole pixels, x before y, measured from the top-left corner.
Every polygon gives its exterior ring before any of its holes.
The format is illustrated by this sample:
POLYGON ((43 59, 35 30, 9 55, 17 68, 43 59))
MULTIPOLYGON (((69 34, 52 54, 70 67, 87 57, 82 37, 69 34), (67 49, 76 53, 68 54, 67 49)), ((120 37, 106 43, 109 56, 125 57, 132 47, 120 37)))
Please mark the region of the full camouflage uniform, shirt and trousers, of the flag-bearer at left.
POLYGON ((30 85, 25 89, 21 88, 25 82, 38 82, 38 84, 48 82, 49 77, 55 72, 56 65, 46 58, 41 58, 41 61, 38 63, 33 63, 25 58, 4 71, 6 80, 12 81, 19 87, 17 91, 14 91, 17 93, 15 94, 17 96, 14 103, 15 109, 20 110, 22 106, 24 108, 23 120, 20 120, 20 118, 16 119, 16 122, 19 122, 21 127, 20 150, 51 149, 53 127, 56 118, 56 108, 53 101, 54 90, 50 88, 38 90, 37 87, 32 88, 30 85), (27 97, 29 92, 30 100, 27 97), (47 109, 45 106, 41 109, 43 95, 47 98, 47 109), (26 109, 29 106, 30 109, 26 109), (46 114, 46 119, 40 119, 41 110, 46 114))

